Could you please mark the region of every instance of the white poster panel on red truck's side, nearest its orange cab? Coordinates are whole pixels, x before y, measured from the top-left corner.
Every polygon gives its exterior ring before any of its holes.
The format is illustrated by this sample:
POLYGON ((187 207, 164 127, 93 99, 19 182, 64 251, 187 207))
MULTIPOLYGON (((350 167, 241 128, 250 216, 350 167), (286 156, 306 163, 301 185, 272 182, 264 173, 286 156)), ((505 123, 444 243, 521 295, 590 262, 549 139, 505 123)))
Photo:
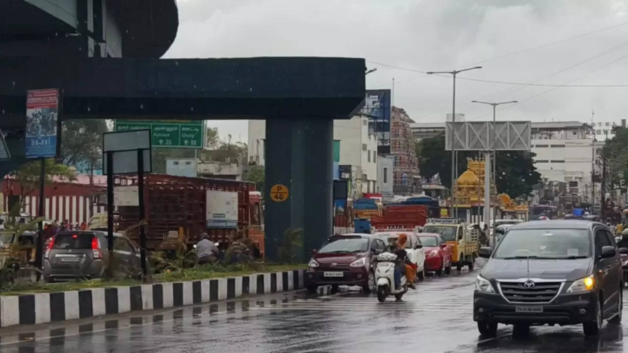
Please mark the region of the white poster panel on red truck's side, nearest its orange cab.
POLYGON ((237 229, 237 192, 207 190, 207 228, 237 229))

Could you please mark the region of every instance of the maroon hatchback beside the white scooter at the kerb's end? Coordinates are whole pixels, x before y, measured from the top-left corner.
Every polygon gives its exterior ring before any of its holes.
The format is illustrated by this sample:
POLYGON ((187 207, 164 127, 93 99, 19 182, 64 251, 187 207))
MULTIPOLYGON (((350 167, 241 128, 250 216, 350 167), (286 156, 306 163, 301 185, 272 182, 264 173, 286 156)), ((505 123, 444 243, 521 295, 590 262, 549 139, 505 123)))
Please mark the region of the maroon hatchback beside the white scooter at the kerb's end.
POLYGON ((370 293, 375 290, 374 259, 386 244, 371 234, 342 234, 328 237, 310 259, 306 287, 314 293, 318 286, 361 286, 370 293))

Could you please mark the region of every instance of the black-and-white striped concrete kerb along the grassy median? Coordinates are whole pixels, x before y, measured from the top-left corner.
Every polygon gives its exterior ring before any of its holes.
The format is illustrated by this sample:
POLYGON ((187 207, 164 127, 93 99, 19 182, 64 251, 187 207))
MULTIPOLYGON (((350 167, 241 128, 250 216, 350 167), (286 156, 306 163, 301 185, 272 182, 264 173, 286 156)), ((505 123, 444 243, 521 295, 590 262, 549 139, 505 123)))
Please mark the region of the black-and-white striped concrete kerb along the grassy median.
POLYGON ((183 307, 304 288, 303 270, 154 285, 0 296, 0 327, 183 307))

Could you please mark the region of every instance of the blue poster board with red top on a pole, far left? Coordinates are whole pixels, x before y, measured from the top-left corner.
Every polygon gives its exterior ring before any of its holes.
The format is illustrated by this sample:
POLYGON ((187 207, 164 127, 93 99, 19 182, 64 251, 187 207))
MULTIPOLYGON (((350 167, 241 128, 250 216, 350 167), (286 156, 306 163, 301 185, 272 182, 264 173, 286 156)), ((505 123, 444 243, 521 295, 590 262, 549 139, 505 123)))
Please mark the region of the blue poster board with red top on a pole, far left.
POLYGON ((58 89, 26 94, 26 158, 57 156, 58 89))

